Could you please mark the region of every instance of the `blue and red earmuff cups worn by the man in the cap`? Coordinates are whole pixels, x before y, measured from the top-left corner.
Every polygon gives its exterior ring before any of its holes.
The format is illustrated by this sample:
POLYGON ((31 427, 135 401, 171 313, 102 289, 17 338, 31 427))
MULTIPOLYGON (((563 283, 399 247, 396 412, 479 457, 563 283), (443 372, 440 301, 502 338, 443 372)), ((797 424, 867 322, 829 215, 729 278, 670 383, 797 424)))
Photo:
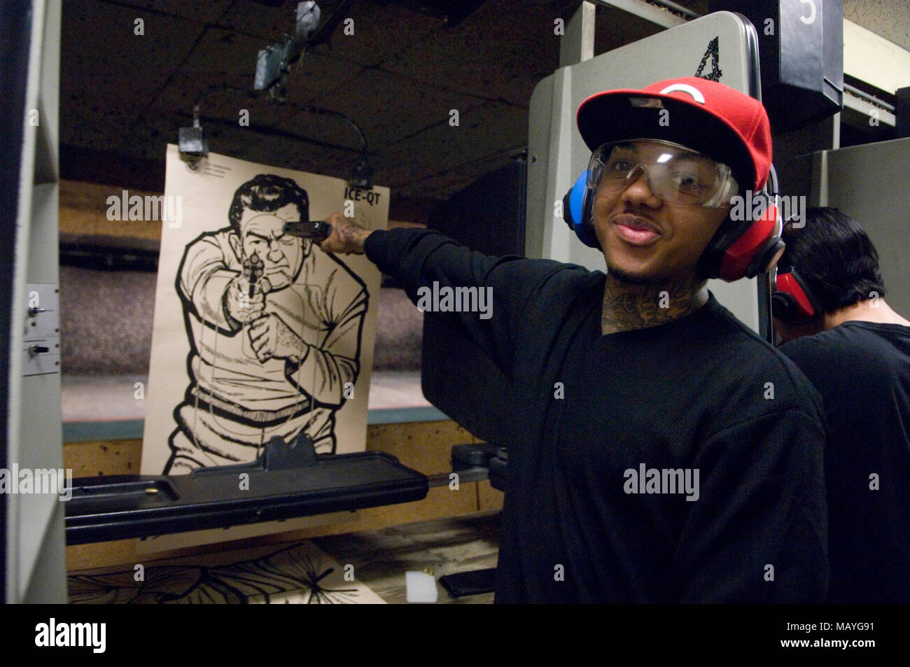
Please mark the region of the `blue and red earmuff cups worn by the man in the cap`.
MULTIPOLYGON (((593 200, 585 171, 562 198, 562 217, 581 243, 600 249, 591 224, 593 200)), ((751 203, 753 206, 746 211, 745 219, 736 221, 727 217, 705 248, 698 261, 698 272, 703 278, 721 278, 727 282, 754 278, 771 270, 784 254, 777 197, 760 192, 753 195, 751 203), (763 199, 762 203, 758 203, 759 198, 763 199), (763 213, 753 220, 752 213, 756 209, 763 213)))

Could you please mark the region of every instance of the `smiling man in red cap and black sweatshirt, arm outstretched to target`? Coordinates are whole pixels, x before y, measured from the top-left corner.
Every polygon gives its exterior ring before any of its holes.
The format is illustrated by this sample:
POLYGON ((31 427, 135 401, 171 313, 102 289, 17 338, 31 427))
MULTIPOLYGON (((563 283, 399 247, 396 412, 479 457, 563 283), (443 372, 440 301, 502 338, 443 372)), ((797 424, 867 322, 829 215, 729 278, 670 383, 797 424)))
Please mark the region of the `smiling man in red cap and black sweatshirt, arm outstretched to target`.
POLYGON ((568 221, 606 273, 338 214, 322 243, 415 301, 491 290, 486 317, 426 317, 511 379, 496 600, 824 601, 820 399, 705 287, 781 249, 773 224, 729 215, 768 177, 763 106, 682 78, 591 96, 578 126, 591 161, 568 221))

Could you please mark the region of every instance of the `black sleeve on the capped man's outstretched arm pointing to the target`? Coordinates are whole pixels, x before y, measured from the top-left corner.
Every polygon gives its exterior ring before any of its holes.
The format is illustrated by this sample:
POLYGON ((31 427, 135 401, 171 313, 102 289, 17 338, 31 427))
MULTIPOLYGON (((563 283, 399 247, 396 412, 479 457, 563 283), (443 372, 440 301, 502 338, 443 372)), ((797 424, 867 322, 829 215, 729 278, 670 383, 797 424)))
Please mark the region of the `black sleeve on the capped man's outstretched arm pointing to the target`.
POLYGON ((424 317, 440 318, 446 325, 460 328, 509 377, 521 313, 540 281, 562 266, 545 259, 490 257, 421 228, 376 230, 367 237, 364 252, 383 273, 399 278, 415 304, 420 298, 418 290, 432 291, 434 283, 436 289, 487 290, 489 317, 477 311, 428 311, 424 317))

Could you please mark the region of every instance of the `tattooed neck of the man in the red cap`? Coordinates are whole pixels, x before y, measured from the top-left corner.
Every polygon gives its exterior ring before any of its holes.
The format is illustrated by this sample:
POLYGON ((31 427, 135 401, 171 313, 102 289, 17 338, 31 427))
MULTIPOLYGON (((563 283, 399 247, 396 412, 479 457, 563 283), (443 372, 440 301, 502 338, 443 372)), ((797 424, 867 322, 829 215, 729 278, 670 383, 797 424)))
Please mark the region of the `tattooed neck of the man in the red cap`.
POLYGON ((607 275, 601 333, 658 327, 689 315, 708 302, 704 280, 691 278, 638 285, 607 275))

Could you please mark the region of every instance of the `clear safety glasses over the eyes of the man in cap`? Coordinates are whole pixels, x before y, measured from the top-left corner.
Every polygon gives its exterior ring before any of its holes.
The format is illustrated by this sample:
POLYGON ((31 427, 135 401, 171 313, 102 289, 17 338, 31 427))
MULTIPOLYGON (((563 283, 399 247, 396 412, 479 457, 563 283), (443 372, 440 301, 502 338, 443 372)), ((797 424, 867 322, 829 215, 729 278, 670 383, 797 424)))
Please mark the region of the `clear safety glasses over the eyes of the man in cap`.
POLYGON ((629 187, 644 172, 652 193, 668 204, 719 208, 739 191, 730 167, 690 148, 658 139, 599 147, 588 164, 588 186, 598 193, 629 187))

